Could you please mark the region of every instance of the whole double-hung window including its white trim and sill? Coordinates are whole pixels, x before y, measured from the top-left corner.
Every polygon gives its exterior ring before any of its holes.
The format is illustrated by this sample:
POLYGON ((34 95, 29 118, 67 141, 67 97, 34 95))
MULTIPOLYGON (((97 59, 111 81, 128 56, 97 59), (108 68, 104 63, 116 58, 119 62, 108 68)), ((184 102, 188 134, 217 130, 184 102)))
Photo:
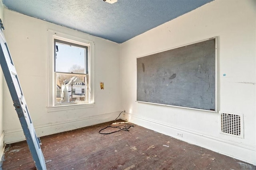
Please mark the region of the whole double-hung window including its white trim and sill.
POLYGON ((48 31, 48 112, 92 107, 94 42, 48 31))

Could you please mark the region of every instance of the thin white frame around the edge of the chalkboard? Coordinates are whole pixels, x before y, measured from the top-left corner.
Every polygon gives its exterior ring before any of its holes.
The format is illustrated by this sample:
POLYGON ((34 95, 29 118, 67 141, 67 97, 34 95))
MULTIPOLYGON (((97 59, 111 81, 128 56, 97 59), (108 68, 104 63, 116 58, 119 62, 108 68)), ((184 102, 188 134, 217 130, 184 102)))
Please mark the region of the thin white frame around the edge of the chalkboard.
POLYGON ((209 112, 218 112, 218 37, 211 37, 211 38, 208 38, 208 39, 203 39, 203 40, 200 40, 200 41, 196 41, 196 42, 192 42, 192 43, 188 43, 188 44, 185 44, 185 45, 180 45, 180 46, 177 46, 177 47, 173 47, 173 48, 169 48, 169 49, 164 49, 162 51, 157 51, 157 52, 154 52, 154 53, 150 53, 150 54, 147 54, 147 55, 143 55, 143 56, 140 56, 140 57, 136 57, 136 71, 137 71, 137 94, 136 94, 136 102, 138 103, 145 103, 145 104, 156 104, 156 105, 161 105, 161 106, 171 106, 171 107, 180 107, 180 108, 186 108, 186 109, 196 109, 196 110, 202 110, 202 111, 209 111, 209 112), (202 109, 202 108, 194 108, 194 107, 184 107, 184 106, 176 106, 176 105, 170 105, 170 104, 162 104, 162 103, 155 103, 155 102, 146 102, 146 101, 140 101, 138 100, 138 59, 139 58, 142 58, 142 57, 148 57, 148 56, 152 56, 152 55, 155 55, 155 54, 159 54, 159 53, 162 53, 162 52, 166 52, 166 51, 171 51, 171 50, 174 50, 174 49, 178 49, 178 48, 182 48, 182 47, 186 47, 188 45, 194 45, 196 43, 200 43, 200 42, 204 42, 204 41, 208 41, 208 40, 212 40, 212 39, 215 39, 215 49, 214 49, 214 55, 215 55, 215 65, 214 65, 214 69, 215 69, 215 77, 214 77, 214 81, 215 81, 215 93, 213 93, 212 95, 214 95, 215 97, 215 100, 214 100, 214 105, 215 105, 215 108, 214 109, 202 109))

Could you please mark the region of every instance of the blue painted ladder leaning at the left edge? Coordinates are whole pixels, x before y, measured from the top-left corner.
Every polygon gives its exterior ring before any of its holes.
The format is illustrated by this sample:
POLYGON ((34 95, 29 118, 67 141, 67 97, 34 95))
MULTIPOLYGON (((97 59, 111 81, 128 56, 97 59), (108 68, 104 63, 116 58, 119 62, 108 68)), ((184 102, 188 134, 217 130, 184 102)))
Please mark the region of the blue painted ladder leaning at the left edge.
POLYGON ((4 38, 4 29, 2 21, 0 20, 0 64, 2 71, 4 73, 5 80, 7 82, 14 107, 20 119, 20 124, 24 131, 26 141, 28 143, 29 150, 32 154, 36 168, 38 170, 46 170, 46 164, 44 161, 44 155, 40 148, 41 142, 39 137, 36 136, 36 132, 28 112, 28 106, 26 104, 20 82, 17 76, 16 69, 12 62, 12 57, 10 55, 6 40, 4 38))

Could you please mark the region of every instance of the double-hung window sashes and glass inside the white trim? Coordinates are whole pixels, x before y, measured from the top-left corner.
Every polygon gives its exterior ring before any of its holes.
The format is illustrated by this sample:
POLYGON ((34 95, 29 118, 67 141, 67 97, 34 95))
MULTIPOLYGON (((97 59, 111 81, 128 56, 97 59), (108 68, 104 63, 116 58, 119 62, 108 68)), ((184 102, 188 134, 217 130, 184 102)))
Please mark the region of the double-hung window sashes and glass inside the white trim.
POLYGON ((54 39, 54 56, 55 104, 88 103, 88 47, 54 39))

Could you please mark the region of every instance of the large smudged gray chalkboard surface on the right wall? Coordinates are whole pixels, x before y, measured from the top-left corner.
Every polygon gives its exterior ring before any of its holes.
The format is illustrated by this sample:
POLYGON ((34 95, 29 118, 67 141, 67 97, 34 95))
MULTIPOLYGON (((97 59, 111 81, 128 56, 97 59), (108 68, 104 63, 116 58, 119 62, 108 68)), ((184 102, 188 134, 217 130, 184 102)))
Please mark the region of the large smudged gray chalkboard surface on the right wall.
POLYGON ((137 101, 216 110, 216 38, 137 58, 137 101))

